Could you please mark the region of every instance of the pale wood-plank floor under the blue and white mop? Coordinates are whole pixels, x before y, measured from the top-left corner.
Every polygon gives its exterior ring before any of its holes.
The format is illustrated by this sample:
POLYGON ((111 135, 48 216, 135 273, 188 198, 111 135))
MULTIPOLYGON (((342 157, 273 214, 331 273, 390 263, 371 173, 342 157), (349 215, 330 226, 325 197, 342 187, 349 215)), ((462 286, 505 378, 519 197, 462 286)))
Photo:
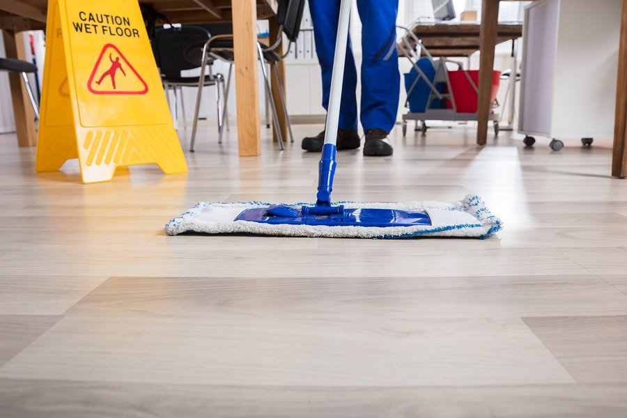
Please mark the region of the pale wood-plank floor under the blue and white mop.
POLYGON ((1 417, 627 416, 609 139, 396 127, 392 157, 339 153, 334 199, 475 192, 505 224, 488 240, 164 235, 197 201, 314 200, 318 155, 263 135, 239 158, 206 127, 186 175, 92 185, 0 136, 1 417))

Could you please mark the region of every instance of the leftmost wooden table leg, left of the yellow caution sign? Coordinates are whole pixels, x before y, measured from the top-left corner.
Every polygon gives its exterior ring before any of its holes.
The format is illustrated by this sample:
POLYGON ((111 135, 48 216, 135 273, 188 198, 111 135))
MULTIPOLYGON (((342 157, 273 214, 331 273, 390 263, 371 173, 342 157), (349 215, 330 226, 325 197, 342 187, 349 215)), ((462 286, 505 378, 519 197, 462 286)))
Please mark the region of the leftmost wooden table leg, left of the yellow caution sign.
MULTIPOLYGON (((3 38, 7 58, 26 59, 22 33, 4 31, 3 38)), ((22 75, 17 72, 9 72, 8 75, 11 87, 11 100, 13 101, 17 145, 35 146, 37 144, 35 113, 29 100, 29 94, 26 92, 26 87, 22 81, 22 75)))

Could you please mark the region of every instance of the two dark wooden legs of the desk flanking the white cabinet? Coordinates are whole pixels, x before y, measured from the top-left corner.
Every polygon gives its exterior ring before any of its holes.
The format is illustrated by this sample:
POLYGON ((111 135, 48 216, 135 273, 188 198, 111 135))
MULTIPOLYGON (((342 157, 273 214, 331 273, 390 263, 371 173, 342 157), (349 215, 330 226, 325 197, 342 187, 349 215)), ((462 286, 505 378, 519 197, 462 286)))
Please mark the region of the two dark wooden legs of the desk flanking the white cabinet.
MULTIPOLYGON (((494 68, 494 47, 497 41, 500 1, 507 0, 483 0, 482 2, 480 36, 481 58, 479 64, 479 125, 477 126, 477 144, 479 145, 485 145, 488 137, 490 79, 492 78, 494 68)), ((594 34, 591 35, 594 36, 594 34)), ((612 176, 624 178, 627 177, 627 0, 623 0, 618 66, 612 176)))

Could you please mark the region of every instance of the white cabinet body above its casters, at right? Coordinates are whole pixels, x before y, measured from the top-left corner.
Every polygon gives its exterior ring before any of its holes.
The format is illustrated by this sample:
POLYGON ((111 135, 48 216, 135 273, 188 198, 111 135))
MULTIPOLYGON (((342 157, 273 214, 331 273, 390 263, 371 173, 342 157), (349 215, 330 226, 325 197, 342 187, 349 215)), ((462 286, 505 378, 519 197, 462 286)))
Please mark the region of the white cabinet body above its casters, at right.
POLYGON ((537 0, 525 8, 520 132, 612 135, 621 6, 621 0, 537 0))

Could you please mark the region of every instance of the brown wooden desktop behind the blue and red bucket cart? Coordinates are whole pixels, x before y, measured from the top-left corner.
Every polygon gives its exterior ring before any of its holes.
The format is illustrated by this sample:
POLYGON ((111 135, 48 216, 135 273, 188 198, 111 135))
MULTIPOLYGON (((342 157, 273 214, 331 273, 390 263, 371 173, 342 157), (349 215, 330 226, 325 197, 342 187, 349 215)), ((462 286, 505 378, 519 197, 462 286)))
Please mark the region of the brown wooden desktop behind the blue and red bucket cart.
MULTIPOLYGON (((416 24, 411 31, 433 56, 471 56, 479 51, 480 29, 479 23, 460 22, 416 24)), ((521 36, 522 24, 499 24, 495 43, 521 36)))

